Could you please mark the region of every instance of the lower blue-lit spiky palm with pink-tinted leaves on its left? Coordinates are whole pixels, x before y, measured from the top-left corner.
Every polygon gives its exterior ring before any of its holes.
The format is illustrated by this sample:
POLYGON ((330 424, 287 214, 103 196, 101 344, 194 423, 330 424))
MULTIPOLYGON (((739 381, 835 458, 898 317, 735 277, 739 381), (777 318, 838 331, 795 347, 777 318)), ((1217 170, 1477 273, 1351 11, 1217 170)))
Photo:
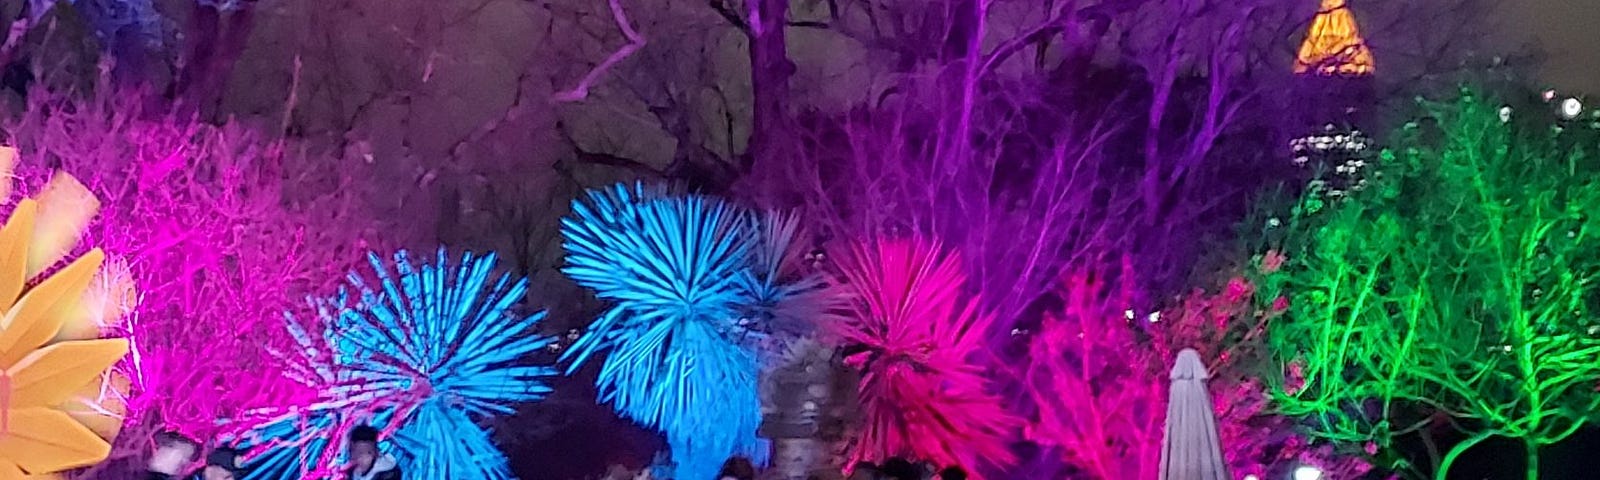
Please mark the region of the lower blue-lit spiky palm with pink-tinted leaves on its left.
POLYGON ((544 312, 510 315, 526 280, 501 275, 494 256, 443 251, 413 266, 405 251, 394 270, 376 254, 376 283, 350 274, 357 302, 341 293, 317 301, 322 347, 294 318, 301 341, 291 373, 320 390, 314 405, 262 422, 242 437, 266 453, 254 478, 299 478, 336 464, 349 429, 371 424, 392 432, 394 451, 418 478, 512 478, 506 458, 477 422, 542 398, 555 370, 531 362, 554 339, 536 333, 544 312), (334 440, 334 442, 330 442, 334 440))

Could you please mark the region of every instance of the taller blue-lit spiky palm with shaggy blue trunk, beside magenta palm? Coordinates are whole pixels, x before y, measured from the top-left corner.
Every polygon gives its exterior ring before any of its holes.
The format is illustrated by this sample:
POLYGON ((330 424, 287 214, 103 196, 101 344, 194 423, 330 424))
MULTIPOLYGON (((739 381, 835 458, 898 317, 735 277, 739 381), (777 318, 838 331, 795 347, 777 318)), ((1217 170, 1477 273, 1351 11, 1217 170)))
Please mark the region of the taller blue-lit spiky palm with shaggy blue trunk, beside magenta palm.
POLYGON ((702 195, 619 184, 562 221, 563 272, 610 301, 566 352, 571 370, 610 352, 600 400, 666 434, 678 478, 709 478, 733 453, 765 456, 757 376, 774 333, 826 298, 786 269, 797 221, 702 195))

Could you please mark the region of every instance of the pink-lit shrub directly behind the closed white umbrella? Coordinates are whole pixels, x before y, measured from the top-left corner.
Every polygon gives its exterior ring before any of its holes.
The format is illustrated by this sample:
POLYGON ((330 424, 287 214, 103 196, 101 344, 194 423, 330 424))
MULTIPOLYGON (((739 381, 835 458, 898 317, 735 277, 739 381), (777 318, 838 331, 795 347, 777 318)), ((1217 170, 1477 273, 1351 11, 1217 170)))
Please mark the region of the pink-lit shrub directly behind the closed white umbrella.
POLYGON ((1267 395, 1248 371, 1262 331, 1282 309, 1256 310, 1251 283, 1235 277, 1221 293, 1195 290, 1160 312, 1136 312, 1128 283, 1126 275, 1069 275, 1061 307, 1029 344, 1022 403, 1038 422, 1026 437, 1053 450, 1056 475, 1155 478, 1168 371, 1184 347, 1200 350, 1213 373, 1218 434, 1237 477, 1267 478, 1299 464, 1318 466, 1331 478, 1368 470, 1362 461, 1307 445, 1288 419, 1267 411, 1267 395))

